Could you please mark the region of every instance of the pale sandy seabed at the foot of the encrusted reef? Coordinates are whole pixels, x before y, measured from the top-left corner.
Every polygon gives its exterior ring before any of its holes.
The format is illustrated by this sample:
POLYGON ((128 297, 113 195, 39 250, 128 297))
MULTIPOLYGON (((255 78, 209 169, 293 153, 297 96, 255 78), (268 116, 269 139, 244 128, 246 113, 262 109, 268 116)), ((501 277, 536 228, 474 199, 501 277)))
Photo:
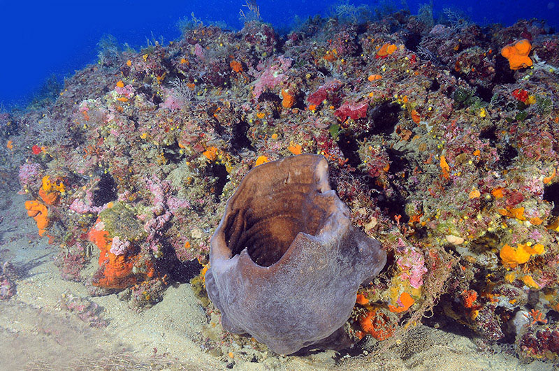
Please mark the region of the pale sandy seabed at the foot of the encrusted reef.
POLYGON ((53 263, 57 247, 36 238, 24 201, 15 195, 0 210, 1 262, 9 260, 24 273, 16 295, 0 302, 0 370, 553 370, 506 352, 481 351, 469 337, 426 326, 376 358, 267 352, 259 357, 263 361, 249 362, 231 349, 213 356, 200 345, 209 319, 189 284, 168 287, 161 303, 140 313, 115 294, 88 298, 104 308, 109 323, 92 328, 61 310, 64 293, 84 298, 87 289, 61 279, 53 263))

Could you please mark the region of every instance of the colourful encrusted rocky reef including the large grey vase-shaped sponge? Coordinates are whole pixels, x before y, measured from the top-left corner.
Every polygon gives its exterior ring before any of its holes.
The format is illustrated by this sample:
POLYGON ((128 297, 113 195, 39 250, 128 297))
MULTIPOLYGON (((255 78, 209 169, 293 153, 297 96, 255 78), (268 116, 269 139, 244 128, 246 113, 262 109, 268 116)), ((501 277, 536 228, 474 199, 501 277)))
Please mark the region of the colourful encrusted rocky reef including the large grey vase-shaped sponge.
POLYGON ((194 22, 168 45, 106 47, 55 101, 1 115, 22 208, 92 296, 143 310, 194 277, 227 330, 207 349, 459 324, 553 362, 559 36, 447 15, 286 35, 194 22))

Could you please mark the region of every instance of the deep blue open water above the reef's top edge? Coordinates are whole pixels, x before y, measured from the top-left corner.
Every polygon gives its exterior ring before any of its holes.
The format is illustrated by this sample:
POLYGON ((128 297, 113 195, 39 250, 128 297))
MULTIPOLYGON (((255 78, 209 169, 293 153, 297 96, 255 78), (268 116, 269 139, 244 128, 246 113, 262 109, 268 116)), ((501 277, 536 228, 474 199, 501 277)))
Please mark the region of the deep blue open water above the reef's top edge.
MULTIPOLYGON (((387 3, 412 14, 428 1, 344 1, 371 8, 387 3)), ((180 37, 177 22, 191 17, 205 23, 225 22, 240 29, 239 10, 244 0, 99 0, 99 1, 3 1, 0 0, 0 111, 24 107, 52 74, 59 80, 87 64, 96 63, 97 43, 103 34, 112 34, 119 43, 132 47, 147 45, 147 39, 172 41, 180 37)), ((340 1, 271 0, 258 1, 264 22, 286 30, 296 16, 328 16, 340 1)), ((478 24, 509 26, 518 19, 537 17, 559 29, 559 0, 471 0, 433 1, 435 20, 444 8, 461 10, 478 24)))

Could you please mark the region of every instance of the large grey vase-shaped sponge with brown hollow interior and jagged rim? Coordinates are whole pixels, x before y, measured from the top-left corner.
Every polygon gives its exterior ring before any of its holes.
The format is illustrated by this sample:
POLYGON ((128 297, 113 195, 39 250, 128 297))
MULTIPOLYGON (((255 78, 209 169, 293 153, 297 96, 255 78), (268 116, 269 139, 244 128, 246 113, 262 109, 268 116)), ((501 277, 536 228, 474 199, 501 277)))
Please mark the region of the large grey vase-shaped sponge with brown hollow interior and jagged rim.
POLYGON ((351 226, 326 159, 301 154, 245 175, 212 237, 205 283, 226 330, 292 354, 336 336, 385 263, 380 243, 351 226))

